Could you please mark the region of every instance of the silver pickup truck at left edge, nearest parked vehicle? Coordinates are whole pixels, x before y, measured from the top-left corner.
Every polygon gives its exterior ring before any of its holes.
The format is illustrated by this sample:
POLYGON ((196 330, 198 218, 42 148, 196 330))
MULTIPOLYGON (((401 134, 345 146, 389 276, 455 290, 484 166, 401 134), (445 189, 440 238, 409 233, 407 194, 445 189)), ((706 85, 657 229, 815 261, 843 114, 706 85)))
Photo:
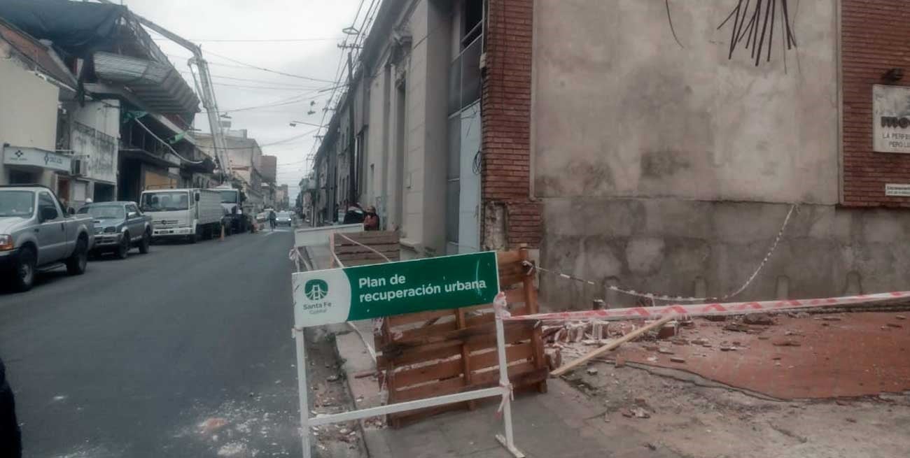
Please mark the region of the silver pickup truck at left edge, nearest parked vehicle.
POLYGON ((27 291, 37 272, 64 265, 71 275, 84 274, 94 244, 91 216, 65 212, 47 187, 0 186, 2 283, 27 291))

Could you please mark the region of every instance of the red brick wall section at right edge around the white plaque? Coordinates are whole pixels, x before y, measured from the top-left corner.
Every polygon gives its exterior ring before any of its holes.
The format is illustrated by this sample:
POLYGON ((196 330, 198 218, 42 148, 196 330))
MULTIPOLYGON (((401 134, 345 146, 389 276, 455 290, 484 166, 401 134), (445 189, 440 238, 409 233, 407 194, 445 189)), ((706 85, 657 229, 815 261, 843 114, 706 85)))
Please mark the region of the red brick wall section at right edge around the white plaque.
POLYGON ((910 207, 910 198, 885 196, 885 184, 910 184, 910 154, 875 153, 872 86, 889 68, 910 85, 910 8, 896 0, 842 0, 844 199, 848 206, 910 207))

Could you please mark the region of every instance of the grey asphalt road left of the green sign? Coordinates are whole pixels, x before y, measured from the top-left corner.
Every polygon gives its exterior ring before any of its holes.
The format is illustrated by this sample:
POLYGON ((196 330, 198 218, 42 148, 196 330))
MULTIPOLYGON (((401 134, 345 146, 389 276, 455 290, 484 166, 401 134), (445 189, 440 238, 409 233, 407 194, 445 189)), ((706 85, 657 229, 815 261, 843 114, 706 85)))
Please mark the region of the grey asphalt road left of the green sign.
POLYGON ((153 245, 0 292, 25 456, 299 456, 292 241, 153 245))

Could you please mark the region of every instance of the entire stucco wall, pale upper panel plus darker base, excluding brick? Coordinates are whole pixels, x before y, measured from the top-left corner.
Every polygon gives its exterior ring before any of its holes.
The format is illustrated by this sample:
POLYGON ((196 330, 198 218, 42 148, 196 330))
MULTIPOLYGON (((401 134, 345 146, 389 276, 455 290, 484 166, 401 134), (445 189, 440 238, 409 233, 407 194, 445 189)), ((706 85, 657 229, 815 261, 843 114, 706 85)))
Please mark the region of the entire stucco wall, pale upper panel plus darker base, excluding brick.
MULTIPOLYGON (((535 3, 532 176, 541 275, 554 306, 590 307, 603 284, 672 295, 736 290, 789 203, 804 203, 737 299, 905 289, 910 214, 838 208, 834 0, 791 2, 798 47, 757 67, 728 60, 731 1, 535 3), (786 67, 784 68, 784 58, 786 67)), ((778 27, 780 23, 777 23, 778 27)), ((871 144, 872 139, 868 139, 871 144)))

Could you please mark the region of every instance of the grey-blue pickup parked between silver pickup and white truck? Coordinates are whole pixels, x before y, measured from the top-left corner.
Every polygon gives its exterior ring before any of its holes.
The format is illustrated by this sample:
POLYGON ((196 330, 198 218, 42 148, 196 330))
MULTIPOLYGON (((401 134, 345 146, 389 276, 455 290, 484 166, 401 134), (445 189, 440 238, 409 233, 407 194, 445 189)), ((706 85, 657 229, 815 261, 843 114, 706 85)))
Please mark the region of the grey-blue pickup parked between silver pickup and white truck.
POLYGON ((152 217, 142 214, 135 202, 87 204, 79 214, 92 216, 95 226, 95 249, 92 254, 113 252, 126 259, 133 247, 147 254, 152 243, 152 217))

